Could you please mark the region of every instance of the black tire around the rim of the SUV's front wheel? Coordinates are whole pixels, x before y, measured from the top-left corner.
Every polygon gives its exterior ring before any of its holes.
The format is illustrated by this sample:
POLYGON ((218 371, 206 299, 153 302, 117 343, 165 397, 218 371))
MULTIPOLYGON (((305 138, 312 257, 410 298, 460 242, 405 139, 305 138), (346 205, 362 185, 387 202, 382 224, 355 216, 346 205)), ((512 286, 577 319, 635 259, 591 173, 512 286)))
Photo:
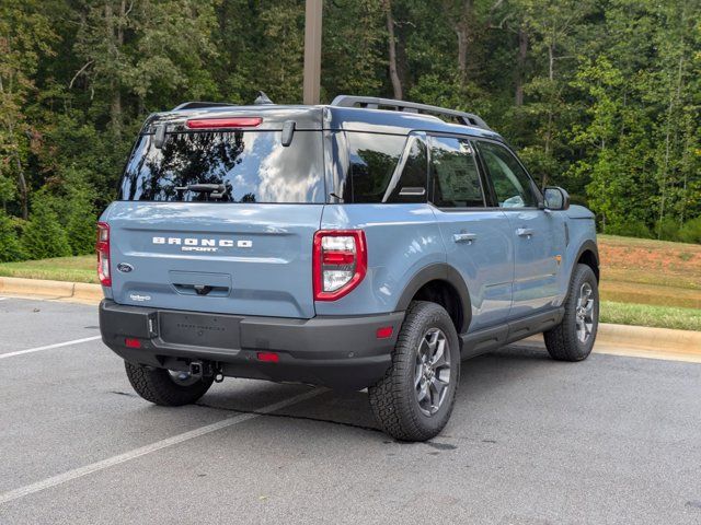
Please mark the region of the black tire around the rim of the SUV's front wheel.
POLYGON ((565 315, 562 322, 543 334, 545 348, 550 357, 558 361, 583 361, 591 353, 599 325, 599 288, 594 271, 587 265, 575 266, 564 306, 565 315), (583 342, 577 337, 577 301, 579 290, 585 283, 591 287, 594 323, 588 339, 583 342))

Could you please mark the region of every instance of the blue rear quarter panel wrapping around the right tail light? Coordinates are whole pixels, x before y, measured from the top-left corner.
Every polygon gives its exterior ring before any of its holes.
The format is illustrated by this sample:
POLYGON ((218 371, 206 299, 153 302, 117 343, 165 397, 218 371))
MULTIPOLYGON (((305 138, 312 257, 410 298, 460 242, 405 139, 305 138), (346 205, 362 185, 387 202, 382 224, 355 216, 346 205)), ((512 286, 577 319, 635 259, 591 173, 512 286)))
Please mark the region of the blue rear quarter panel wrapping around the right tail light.
POLYGON ((446 262, 440 231, 429 205, 326 206, 322 230, 363 229, 368 270, 348 295, 318 301, 318 315, 394 312, 405 287, 422 268, 446 262))

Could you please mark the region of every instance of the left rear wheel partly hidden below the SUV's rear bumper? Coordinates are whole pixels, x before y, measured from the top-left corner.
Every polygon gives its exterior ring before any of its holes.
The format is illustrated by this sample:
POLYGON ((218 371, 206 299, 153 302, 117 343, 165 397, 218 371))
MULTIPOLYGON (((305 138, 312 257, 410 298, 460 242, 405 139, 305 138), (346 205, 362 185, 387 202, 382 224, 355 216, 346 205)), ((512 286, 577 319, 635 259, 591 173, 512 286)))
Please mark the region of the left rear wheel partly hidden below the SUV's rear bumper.
POLYGON ((195 402, 211 386, 214 377, 194 377, 187 372, 153 369, 124 362, 129 383, 147 401, 164 407, 179 407, 195 402))

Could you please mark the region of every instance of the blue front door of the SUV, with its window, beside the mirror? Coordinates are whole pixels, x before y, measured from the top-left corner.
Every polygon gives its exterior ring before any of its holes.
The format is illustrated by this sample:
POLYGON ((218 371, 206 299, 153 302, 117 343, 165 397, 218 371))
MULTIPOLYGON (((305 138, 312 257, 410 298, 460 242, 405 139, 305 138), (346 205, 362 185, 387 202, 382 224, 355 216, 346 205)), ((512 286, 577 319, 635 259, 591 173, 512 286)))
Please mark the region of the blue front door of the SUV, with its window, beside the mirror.
POLYGON ((510 225, 515 257, 510 317, 548 310, 558 296, 561 249, 565 246, 562 220, 539 209, 535 183, 510 150, 493 141, 476 144, 494 199, 510 225))

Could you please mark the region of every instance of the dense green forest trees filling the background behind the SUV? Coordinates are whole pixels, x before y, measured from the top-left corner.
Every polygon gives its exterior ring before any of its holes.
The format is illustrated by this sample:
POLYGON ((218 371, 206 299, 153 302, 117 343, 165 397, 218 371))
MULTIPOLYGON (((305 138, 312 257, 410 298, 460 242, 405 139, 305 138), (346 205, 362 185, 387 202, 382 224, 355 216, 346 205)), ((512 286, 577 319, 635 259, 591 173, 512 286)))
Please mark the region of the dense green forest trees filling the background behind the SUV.
MULTIPOLYGON (((701 0, 323 4, 322 102, 399 82, 480 114, 601 231, 699 242, 701 0)), ((145 117, 257 90, 299 103, 303 23, 301 0, 3 0, 0 207, 30 235, 50 208, 91 250, 145 117)))

